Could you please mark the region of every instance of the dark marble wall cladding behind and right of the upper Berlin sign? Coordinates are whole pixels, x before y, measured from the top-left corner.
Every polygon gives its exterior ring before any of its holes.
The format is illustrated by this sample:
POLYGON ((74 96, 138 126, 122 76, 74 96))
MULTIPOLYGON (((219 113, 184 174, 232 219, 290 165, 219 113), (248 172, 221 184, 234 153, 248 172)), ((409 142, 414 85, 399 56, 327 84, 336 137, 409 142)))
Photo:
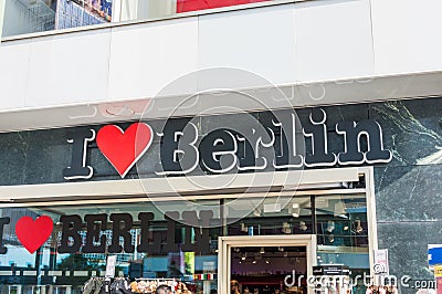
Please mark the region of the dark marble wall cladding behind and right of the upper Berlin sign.
MULTIPOLYGON (((431 280, 427 246, 442 243, 442 189, 439 180, 442 177, 442 98, 327 106, 324 109, 327 113, 329 151, 343 151, 343 138, 335 133, 338 122, 375 118, 382 126, 385 147, 392 151, 393 159, 375 167, 379 248, 390 250, 391 274, 431 280)), ((308 122, 312 109, 296 112, 302 124, 308 122)), ((200 134, 225 120, 239 127, 250 126, 241 115, 193 118, 200 134)), ((160 122, 149 124, 156 129, 160 122)), ((120 126, 125 128, 127 125, 120 126)), ((95 129, 99 127, 93 126, 95 129)), ((0 185, 65 182, 62 171, 71 160, 71 146, 65 138, 67 130, 0 134, 0 185)), ((309 151, 308 140, 306 151, 309 151)), ((120 179, 95 143, 91 144, 87 158, 95 170, 91 180, 120 179)), ((157 177, 154 168, 158 158, 159 138, 156 137, 138 164, 143 177, 157 177)), ((136 177, 136 168, 126 176, 136 177)), ((415 293, 412 288, 402 291, 415 293)))

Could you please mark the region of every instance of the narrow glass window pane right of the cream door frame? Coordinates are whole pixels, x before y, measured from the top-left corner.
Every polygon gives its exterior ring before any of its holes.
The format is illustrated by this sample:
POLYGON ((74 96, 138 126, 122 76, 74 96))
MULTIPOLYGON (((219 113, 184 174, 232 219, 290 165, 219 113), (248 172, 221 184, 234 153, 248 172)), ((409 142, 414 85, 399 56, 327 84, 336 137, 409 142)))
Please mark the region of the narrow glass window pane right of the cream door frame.
MULTIPOLYGON (((316 197, 315 209, 318 264, 345 264, 352 277, 369 275, 366 195, 316 197)), ((358 282, 354 293, 365 293, 362 283, 358 282)))

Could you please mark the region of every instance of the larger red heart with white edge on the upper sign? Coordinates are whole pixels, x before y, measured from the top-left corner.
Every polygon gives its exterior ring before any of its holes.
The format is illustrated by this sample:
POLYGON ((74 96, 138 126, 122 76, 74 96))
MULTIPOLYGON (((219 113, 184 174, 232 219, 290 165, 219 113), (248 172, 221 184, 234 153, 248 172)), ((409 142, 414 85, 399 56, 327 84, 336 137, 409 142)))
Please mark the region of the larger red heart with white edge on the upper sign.
POLYGON ((126 132, 115 125, 98 130, 96 143, 102 154, 124 178, 150 147, 154 132, 147 124, 131 124, 126 132))

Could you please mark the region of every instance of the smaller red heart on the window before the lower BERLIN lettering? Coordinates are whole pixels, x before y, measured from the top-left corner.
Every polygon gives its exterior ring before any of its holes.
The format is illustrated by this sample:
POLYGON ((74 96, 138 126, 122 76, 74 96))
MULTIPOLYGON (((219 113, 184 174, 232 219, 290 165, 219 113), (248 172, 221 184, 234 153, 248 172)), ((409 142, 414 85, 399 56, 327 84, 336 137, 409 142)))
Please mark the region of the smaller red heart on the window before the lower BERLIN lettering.
POLYGON ((32 254, 51 237, 54 223, 46 216, 33 220, 31 217, 21 218, 15 224, 15 234, 23 246, 32 254))

